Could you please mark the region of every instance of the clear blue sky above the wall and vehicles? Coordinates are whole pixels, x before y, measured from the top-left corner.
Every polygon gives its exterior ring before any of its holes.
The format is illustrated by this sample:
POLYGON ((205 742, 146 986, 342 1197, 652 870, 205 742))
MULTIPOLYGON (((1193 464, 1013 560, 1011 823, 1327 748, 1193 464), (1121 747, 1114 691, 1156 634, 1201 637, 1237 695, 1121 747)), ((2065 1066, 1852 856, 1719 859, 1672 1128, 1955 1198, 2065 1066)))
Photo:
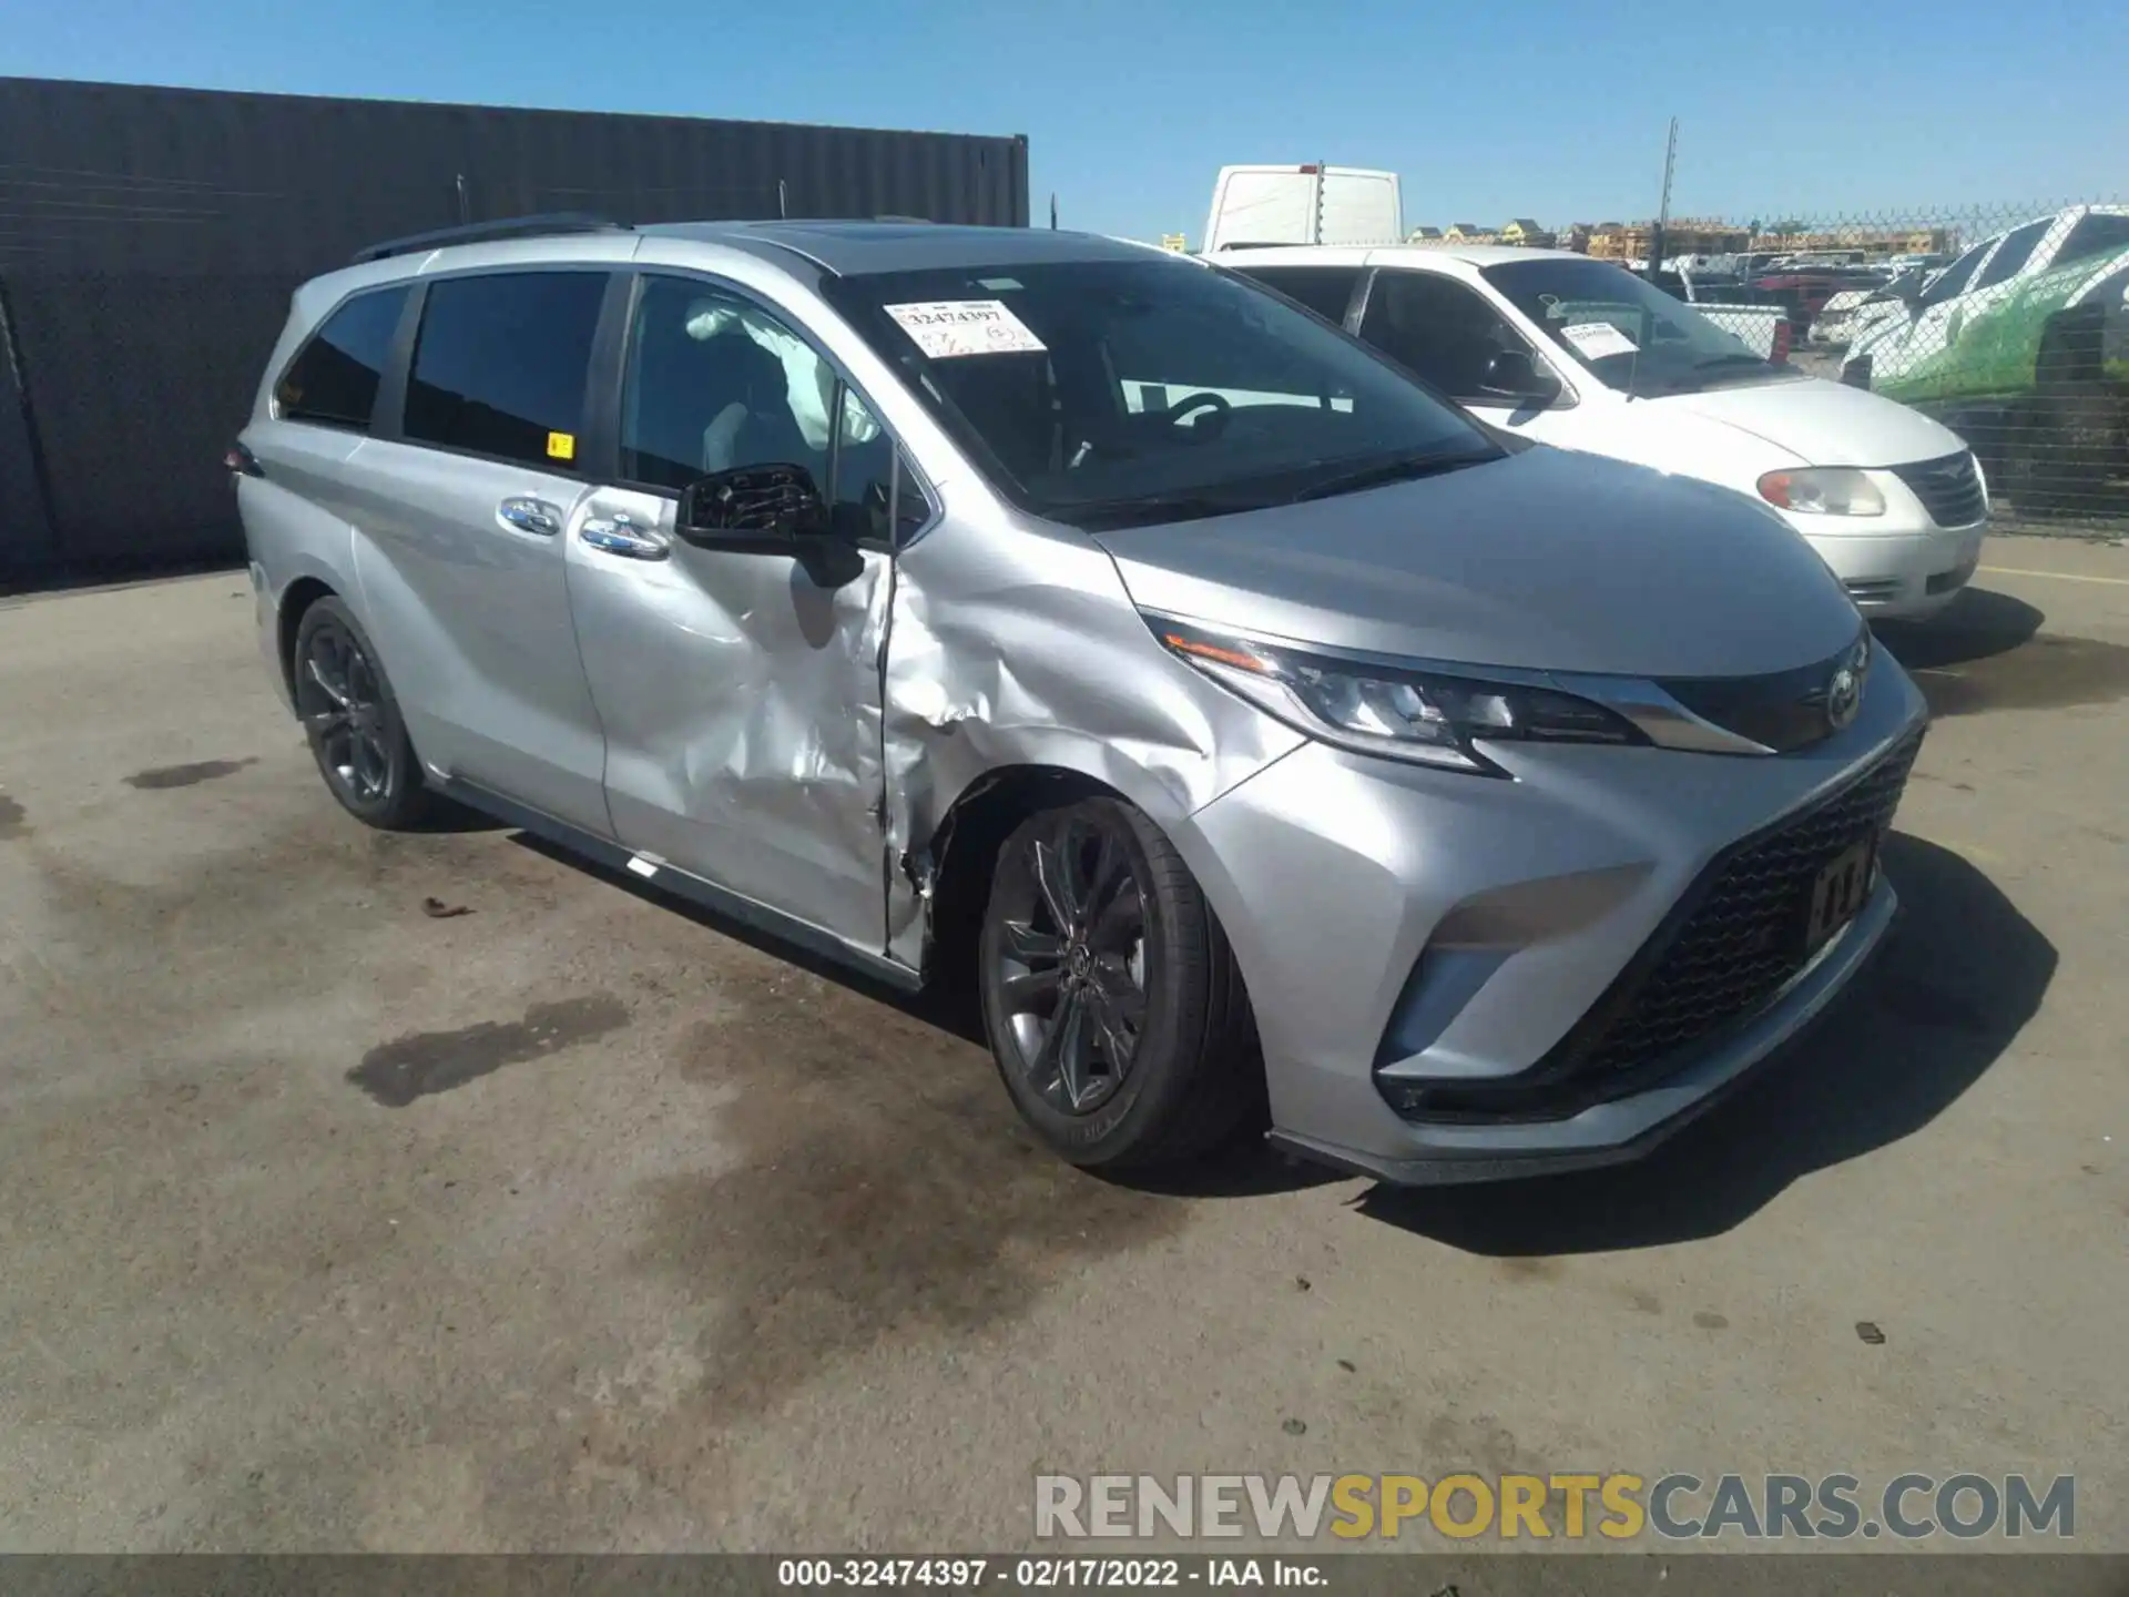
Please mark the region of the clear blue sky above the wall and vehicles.
POLYGON ((2129 6, 2054 0, 0 0, 0 66, 189 87, 1024 132, 1035 215, 1205 226, 1226 162, 1403 175, 1405 219, 2129 198, 2129 6), (2112 151, 2112 155, 2110 155, 2112 151))

